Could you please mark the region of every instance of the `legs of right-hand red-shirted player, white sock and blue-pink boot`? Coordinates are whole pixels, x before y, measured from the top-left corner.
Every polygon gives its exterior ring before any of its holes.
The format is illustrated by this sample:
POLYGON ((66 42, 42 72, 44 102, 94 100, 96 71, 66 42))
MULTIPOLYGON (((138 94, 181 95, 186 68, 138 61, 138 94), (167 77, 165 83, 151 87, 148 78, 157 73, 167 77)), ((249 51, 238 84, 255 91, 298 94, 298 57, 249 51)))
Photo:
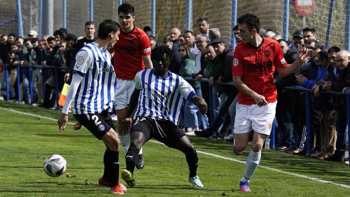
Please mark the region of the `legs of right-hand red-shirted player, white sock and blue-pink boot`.
MULTIPOLYGON (((249 133, 247 133, 247 134, 249 137, 249 133)), ((242 134, 238 134, 238 135, 242 135, 242 134)), ((235 137, 237 137, 237 136, 235 135, 235 137)), ((240 191, 250 191, 249 181, 253 177, 254 172, 259 165, 260 158, 261 158, 261 149, 262 149, 262 145, 264 144, 266 137, 267 137, 266 134, 261 134, 261 133, 257 133, 254 131, 252 149, 251 149, 249 156, 247 158, 247 164, 245 167, 244 175, 239 183, 240 191)), ((238 142, 238 139, 236 142, 238 142)), ((240 144, 240 143, 238 143, 238 144, 240 144)), ((239 148, 243 148, 243 146, 244 145, 240 144, 239 148)), ((239 149, 239 150, 243 150, 243 149, 239 149)))

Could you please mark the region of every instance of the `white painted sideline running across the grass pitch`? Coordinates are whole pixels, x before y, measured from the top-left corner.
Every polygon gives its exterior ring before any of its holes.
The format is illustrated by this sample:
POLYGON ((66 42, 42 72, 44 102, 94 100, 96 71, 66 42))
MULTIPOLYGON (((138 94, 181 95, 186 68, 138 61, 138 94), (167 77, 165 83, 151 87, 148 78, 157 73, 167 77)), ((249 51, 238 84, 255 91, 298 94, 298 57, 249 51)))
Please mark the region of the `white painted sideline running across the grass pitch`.
MULTIPOLYGON (((30 113, 17 111, 17 110, 13 110, 13 109, 7 109, 7 108, 2 108, 2 107, 0 107, 0 109, 7 110, 7 111, 12 111, 12 112, 19 113, 19 114, 25 114, 25 115, 28 115, 28 116, 35 116, 35 117, 40 117, 40 118, 44 118, 44 119, 47 119, 47 120, 57 121, 57 119, 54 119, 54 118, 49 118, 49 117, 40 116, 40 115, 36 115, 36 114, 30 114, 30 113)), ((74 123, 68 122, 68 124, 74 124, 74 123)), ((150 140, 150 142, 163 144, 161 142, 154 141, 154 140, 150 140)), ((234 162, 239 162, 239 163, 244 163, 244 164, 247 163, 245 161, 240 161, 238 159, 232 159, 230 157, 224 157, 224 156, 220 156, 220 155, 215 155, 215 154, 211 154, 211 153, 204 152, 204 151, 201 151, 201 150, 197 150, 197 152, 199 152, 201 154, 204 154, 204 155, 209 155, 209 156, 213 156, 213 157, 217 157, 217 158, 221 158, 221 159, 226 159, 226 160, 230 160, 230 161, 234 161, 234 162)), ((297 176, 297 177, 301 177, 301 178, 307 178, 307 179, 311 179, 311 180, 322 182, 322 183, 330 183, 330 184, 333 184, 333 185, 338 185, 338 186, 342 186, 344 188, 350 189, 350 186, 349 185, 345 185, 345 184, 335 183, 335 182, 332 182, 332 181, 325 181, 325 180, 322 180, 322 179, 319 179, 319 178, 314 178, 314 177, 310 177, 310 176, 300 175, 300 174, 296 174, 296 173, 292 173, 292 172, 286 172, 286 171, 278 170, 278 169, 275 169, 275 168, 266 167, 264 165, 259 165, 258 167, 266 169, 266 170, 280 172, 282 174, 297 176)))

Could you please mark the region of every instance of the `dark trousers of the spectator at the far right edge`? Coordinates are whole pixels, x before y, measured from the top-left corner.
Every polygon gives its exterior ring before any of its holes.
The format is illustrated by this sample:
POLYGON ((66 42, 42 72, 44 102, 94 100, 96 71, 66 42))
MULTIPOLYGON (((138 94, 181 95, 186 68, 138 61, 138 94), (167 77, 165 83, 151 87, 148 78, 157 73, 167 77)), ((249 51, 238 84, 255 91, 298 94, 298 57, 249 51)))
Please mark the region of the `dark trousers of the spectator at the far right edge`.
POLYGON ((346 111, 345 109, 335 110, 335 129, 337 131, 337 142, 335 154, 339 156, 345 156, 346 148, 346 111))

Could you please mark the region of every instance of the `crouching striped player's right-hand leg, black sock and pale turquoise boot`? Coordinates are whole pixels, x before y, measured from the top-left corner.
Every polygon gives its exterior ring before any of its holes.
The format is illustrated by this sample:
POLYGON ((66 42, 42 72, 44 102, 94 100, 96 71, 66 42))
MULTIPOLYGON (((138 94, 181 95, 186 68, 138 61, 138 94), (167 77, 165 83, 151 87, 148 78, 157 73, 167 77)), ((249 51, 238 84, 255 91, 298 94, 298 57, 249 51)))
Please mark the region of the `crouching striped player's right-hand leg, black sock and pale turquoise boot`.
POLYGON ((189 181, 195 187, 203 187, 203 184, 199 177, 197 176, 197 167, 198 167, 198 156, 197 151, 193 144, 190 142, 187 136, 180 138, 174 145, 175 149, 180 150, 186 156, 186 161, 188 164, 188 169, 190 170, 189 181))

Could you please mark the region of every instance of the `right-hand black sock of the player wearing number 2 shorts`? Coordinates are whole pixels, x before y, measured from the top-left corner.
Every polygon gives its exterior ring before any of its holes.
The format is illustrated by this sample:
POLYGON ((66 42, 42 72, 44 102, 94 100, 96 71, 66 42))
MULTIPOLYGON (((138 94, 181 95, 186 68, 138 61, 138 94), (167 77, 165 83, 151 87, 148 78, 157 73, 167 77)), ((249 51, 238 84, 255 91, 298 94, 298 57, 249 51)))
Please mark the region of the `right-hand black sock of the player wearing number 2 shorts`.
POLYGON ((107 148, 107 166, 109 170, 109 181, 111 186, 117 185, 119 181, 119 151, 107 148))

